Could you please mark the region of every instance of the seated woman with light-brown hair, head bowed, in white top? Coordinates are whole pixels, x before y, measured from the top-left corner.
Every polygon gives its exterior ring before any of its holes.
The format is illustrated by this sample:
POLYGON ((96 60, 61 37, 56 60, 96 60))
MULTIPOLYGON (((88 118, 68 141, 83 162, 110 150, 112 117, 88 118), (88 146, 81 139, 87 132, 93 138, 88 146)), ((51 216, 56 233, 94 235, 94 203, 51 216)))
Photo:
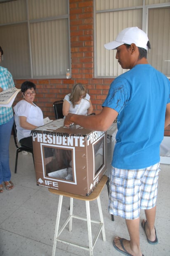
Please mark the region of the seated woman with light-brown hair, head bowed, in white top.
POLYGON ((92 114, 93 106, 90 100, 90 95, 86 92, 84 85, 73 85, 71 93, 64 97, 63 102, 63 115, 67 116, 68 113, 78 115, 92 114))

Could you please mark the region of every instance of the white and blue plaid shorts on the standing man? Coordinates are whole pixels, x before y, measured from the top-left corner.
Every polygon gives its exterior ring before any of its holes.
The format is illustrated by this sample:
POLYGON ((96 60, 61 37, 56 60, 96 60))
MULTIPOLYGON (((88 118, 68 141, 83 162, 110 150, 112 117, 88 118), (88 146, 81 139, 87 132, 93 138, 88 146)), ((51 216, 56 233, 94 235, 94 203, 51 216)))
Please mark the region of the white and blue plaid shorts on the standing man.
POLYGON ((160 163, 144 169, 118 169, 110 174, 109 213, 127 220, 137 219, 140 209, 156 205, 160 163))

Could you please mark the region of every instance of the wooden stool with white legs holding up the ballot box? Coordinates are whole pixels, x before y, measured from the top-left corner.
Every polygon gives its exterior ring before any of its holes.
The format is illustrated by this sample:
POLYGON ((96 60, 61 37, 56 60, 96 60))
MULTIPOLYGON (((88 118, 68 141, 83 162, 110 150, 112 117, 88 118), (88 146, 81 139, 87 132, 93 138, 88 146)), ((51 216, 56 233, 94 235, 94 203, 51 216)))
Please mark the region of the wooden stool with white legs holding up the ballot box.
POLYGON ((100 234, 101 231, 102 231, 103 241, 104 242, 106 241, 105 230, 104 230, 104 219, 103 219, 103 213, 102 213, 102 206, 101 206, 101 202, 100 202, 100 193, 102 192, 102 189, 104 188, 104 185, 106 184, 107 179, 108 179, 107 176, 104 175, 102 177, 102 179, 99 181, 99 183, 97 184, 96 188, 94 188, 94 191, 89 196, 80 196, 80 195, 73 194, 73 193, 58 191, 58 190, 52 189, 52 188, 48 189, 51 193, 59 195, 59 205, 58 205, 58 210, 57 210, 57 219, 56 219, 56 226, 55 226, 55 232, 54 232, 52 256, 55 256, 57 241, 58 242, 63 242, 65 244, 73 245, 73 246, 79 247, 79 248, 84 249, 84 250, 87 250, 87 251, 90 252, 90 256, 93 256, 93 248, 94 248, 94 245, 95 245, 95 243, 97 241, 97 238, 99 237, 99 234, 100 234), (59 221, 60 221, 60 215, 61 215, 61 207, 62 207, 63 196, 66 196, 66 197, 70 198, 70 215, 67 218, 67 220, 64 222, 62 227, 59 229, 59 221), (78 216, 78 215, 73 215, 73 198, 85 201, 86 215, 87 215, 86 218, 78 216), (92 200, 95 200, 95 199, 97 199, 100 221, 99 220, 92 220, 90 218, 90 204, 89 204, 89 201, 92 201, 92 200), (72 219, 73 218, 87 221, 89 246, 84 246, 82 244, 78 244, 77 242, 73 243, 73 242, 69 242, 68 240, 58 238, 59 235, 61 234, 61 232, 64 230, 64 228, 68 224, 68 222, 69 222, 69 231, 72 231, 72 219), (93 240, 92 240, 91 222, 99 224, 99 229, 98 229, 97 233, 95 234, 93 240))

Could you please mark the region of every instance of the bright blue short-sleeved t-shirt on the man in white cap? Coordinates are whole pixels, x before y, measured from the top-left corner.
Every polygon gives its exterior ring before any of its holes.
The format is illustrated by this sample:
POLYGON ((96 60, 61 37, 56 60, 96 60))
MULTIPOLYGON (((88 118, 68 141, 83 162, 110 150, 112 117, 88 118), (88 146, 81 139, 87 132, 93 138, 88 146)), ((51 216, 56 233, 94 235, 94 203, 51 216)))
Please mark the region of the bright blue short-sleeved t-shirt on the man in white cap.
POLYGON ((103 106, 118 112, 112 166, 141 169, 160 161, 170 81, 149 64, 117 77, 103 106))

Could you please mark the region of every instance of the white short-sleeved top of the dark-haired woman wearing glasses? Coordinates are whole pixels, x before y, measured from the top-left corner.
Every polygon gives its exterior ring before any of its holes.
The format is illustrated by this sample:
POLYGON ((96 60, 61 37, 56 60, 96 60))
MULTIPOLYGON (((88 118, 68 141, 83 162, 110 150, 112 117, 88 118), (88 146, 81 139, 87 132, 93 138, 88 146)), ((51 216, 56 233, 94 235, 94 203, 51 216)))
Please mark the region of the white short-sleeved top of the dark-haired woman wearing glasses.
POLYGON ((25 116, 26 121, 31 123, 33 126, 43 126, 43 112, 42 110, 36 106, 34 103, 33 105, 28 101, 22 99, 14 106, 14 118, 17 128, 17 139, 18 141, 31 136, 31 130, 26 130, 20 126, 19 123, 19 116, 25 116))

